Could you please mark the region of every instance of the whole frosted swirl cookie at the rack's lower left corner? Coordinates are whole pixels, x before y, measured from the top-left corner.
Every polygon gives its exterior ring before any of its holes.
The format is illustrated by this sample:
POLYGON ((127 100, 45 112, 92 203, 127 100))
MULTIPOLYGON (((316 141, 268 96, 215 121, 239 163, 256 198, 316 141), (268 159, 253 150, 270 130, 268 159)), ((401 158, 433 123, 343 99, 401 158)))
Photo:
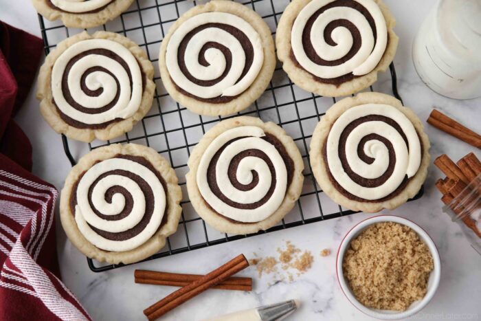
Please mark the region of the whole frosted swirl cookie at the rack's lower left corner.
POLYGON ((177 230, 182 198, 170 164, 152 148, 113 144, 74 166, 60 196, 67 237, 89 258, 133 263, 177 230))

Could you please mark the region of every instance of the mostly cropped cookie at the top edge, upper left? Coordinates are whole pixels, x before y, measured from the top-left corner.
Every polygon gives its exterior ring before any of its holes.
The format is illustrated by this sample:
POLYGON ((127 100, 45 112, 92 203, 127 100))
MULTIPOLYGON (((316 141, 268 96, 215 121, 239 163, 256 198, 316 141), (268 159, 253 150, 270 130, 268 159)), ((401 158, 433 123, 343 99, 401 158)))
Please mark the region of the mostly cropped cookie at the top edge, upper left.
POLYGON ((67 27, 103 25, 128 9, 133 0, 32 0, 39 14, 50 21, 60 19, 67 27))

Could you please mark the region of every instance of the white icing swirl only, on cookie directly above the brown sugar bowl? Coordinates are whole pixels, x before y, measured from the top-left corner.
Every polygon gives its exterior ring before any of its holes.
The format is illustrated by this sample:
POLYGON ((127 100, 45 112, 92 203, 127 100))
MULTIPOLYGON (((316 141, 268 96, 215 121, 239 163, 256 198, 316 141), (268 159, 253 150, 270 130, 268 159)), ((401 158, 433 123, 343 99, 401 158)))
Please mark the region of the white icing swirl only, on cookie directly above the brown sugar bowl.
POLYGON ((390 195, 398 188, 404 177, 413 177, 421 165, 421 142, 414 125, 399 109, 388 104, 362 104, 345 111, 334 122, 329 132, 326 145, 328 167, 335 181, 350 194, 362 199, 375 200, 390 195), (407 139, 407 144, 401 134, 386 122, 366 121, 353 129, 346 140, 346 159, 350 168, 366 179, 380 177, 388 169, 389 151, 379 140, 370 140, 364 145, 364 153, 374 159, 372 164, 366 164, 357 154, 357 146, 363 137, 377 134, 389 140, 394 149, 396 163, 394 171, 388 179, 377 187, 365 187, 357 184, 344 171, 339 158, 339 138, 342 131, 354 120, 368 115, 382 115, 394 120, 407 139))

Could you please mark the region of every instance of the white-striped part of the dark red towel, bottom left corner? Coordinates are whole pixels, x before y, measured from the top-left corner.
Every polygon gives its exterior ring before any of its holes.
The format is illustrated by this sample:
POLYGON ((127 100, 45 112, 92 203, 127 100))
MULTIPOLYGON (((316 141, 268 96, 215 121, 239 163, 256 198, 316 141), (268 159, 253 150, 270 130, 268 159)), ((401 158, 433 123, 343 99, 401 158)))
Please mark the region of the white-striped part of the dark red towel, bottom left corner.
POLYGON ((0 320, 89 320, 56 267, 58 192, 0 154, 0 320))

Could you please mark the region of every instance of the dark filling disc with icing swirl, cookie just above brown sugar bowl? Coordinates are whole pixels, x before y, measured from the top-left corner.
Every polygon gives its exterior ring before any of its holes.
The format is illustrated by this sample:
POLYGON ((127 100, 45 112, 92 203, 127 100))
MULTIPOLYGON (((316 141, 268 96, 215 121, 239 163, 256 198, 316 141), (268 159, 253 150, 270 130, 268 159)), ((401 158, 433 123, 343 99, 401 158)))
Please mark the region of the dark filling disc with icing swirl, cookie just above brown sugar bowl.
POLYGON ((363 104, 345 111, 324 143, 326 169, 350 199, 394 197, 421 165, 421 142, 410 120, 395 107, 363 104))

